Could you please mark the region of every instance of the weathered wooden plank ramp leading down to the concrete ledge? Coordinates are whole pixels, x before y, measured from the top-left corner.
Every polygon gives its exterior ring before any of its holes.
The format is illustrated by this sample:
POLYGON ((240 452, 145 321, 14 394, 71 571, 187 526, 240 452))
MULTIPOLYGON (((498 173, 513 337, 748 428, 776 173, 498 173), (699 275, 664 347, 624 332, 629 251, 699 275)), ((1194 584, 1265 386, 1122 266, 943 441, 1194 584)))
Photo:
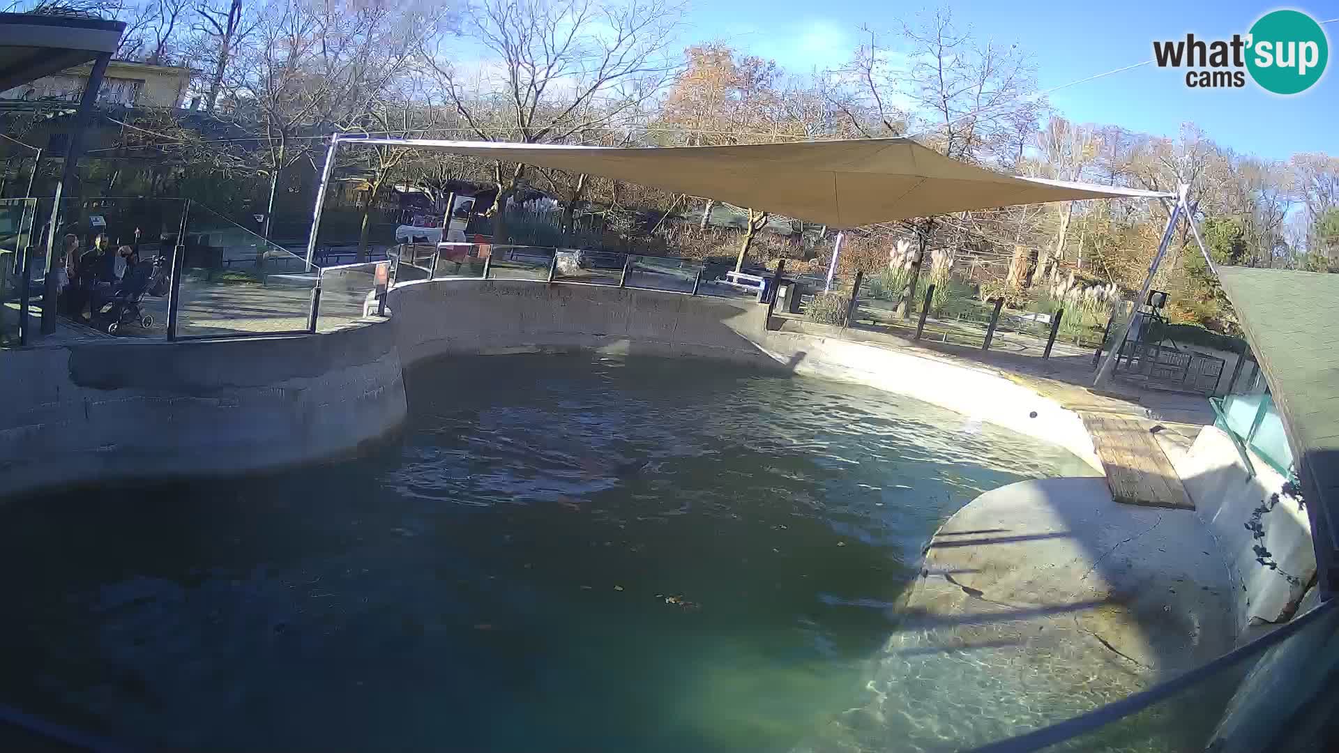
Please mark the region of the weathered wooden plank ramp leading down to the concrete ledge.
POLYGON ((1093 437, 1106 485, 1118 502, 1158 508, 1194 509, 1181 477, 1162 453, 1152 426, 1133 418, 1079 413, 1093 437))

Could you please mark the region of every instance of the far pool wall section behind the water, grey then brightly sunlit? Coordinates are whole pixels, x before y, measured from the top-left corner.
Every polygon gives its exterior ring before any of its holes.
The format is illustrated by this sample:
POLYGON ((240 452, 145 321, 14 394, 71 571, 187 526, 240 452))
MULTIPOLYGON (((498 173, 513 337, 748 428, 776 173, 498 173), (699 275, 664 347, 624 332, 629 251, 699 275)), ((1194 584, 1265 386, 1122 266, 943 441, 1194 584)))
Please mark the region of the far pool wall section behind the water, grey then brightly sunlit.
POLYGON ((984 368, 802 332, 769 331, 766 307, 609 285, 415 281, 390 293, 406 367, 449 354, 585 348, 688 355, 857 382, 1058 445, 1101 472, 1078 414, 984 368))

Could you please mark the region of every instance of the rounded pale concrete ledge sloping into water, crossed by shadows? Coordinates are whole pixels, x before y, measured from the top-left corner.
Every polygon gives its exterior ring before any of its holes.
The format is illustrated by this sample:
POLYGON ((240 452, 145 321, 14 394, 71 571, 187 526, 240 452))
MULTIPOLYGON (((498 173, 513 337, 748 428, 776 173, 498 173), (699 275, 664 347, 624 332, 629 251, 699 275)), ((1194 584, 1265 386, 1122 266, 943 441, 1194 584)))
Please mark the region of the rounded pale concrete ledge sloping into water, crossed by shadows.
POLYGON ((872 698, 840 725, 849 749, 975 748, 1176 677, 1233 639, 1221 559, 1194 513, 1118 505, 1095 477, 977 497, 931 540, 890 618, 872 698))

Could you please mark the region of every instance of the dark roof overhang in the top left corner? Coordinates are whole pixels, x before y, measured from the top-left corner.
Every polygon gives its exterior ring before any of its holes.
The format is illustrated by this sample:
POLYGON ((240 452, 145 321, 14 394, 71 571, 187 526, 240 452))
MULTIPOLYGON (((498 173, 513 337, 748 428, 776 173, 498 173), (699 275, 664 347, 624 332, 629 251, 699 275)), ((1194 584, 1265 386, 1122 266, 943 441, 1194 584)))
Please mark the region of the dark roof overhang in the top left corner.
POLYGON ((0 91, 116 51, 122 21, 0 13, 0 91))

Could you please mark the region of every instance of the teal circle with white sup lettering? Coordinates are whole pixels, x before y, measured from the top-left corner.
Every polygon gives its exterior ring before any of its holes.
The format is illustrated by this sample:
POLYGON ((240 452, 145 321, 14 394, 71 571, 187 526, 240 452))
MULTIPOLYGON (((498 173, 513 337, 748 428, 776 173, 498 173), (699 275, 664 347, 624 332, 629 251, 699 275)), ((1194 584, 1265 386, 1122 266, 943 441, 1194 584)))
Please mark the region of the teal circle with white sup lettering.
POLYGON ((1326 32, 1300 11, 1272 11, 1251 27, 1247 70, 1265 91, 1299 94, 1320 80, 1330 59, 1326 32))

